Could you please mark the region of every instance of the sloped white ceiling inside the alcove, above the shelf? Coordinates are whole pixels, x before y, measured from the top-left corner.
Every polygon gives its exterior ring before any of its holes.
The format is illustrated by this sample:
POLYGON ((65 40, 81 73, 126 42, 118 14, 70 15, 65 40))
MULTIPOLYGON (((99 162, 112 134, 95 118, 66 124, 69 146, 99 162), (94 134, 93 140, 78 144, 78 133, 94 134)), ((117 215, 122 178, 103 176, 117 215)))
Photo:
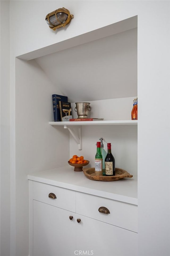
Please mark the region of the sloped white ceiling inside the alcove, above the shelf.
POLYGON ((70 102, 137 95, 137 28, 35 60, 70 102))

